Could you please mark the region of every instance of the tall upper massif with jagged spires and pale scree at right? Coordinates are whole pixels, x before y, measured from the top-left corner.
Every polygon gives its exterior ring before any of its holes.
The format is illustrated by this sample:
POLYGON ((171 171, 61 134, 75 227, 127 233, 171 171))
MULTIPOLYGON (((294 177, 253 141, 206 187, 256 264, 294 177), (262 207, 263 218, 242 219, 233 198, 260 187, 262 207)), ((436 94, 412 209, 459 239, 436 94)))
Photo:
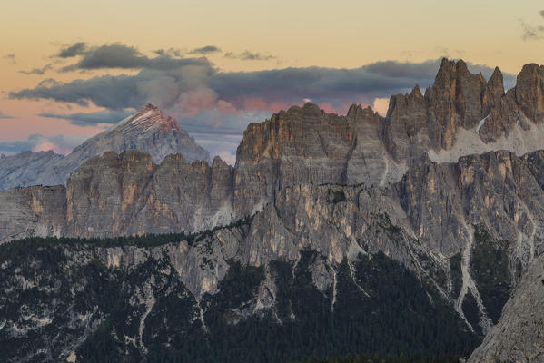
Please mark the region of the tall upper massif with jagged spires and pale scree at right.
POLYGON ((353 105, 346 116, 312 103, 252 123, 236 153, 234 210, 251 215, 301 182, 388 185, 421 162, 457 162, 498 150, 544 147, 544 69, 528 64, 504 93, 497 68, 486 83, 462 60, 444 59, 421 94, 391 96, 385 118, 353 105))

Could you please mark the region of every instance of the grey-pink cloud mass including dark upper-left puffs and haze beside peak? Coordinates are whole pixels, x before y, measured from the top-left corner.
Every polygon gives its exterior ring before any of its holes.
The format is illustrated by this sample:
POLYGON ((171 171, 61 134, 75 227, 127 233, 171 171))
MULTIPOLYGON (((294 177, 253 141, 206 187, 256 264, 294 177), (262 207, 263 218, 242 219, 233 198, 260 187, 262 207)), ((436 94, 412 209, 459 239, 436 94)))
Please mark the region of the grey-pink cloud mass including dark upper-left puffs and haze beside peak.
MULTIPOLYGON (((361 103, 373 105, 384 114, 391 94, 410 92, 415 84, 430 86, 440 67, 437 59, 420 63, 384 61, 351 69, 313 66, 221 72, 205 58, 175 58, 168 51, 155 51, 158 55, 150 58, 124 44, 87 45, 85 49, 74 64, 76 69, 114 65, 143 68, 136 74, 94 76, 66 83, 47 79, 34 88, 9 93, 10 98, 94 104, 107 110, 42 114, 78 125, 115 123, 128 114, 127 109, 153 103, 188 132, 213 135, 197 140, 206 143, 211 152, 223 155, 232 154, 237 145, 227 142, 224 135, 240 137, 248 123, 262 122, 270 113, 302 105, 307 99, 327 112, 345 113, 351 103, 361 103)), ((486 65, 468 65, 472 72, 485 77, 493 72, 486 65)), ((504 79, 507 88, 515 83, 511 74, 504 74, 504 79)))

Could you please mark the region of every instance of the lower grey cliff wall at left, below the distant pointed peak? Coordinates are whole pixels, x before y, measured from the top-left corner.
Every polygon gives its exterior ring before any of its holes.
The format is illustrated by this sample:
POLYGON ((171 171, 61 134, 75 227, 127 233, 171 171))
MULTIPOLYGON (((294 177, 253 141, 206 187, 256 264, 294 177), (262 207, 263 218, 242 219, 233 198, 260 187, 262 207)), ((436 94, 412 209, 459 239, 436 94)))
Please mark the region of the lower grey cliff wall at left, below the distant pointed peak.
POLYGON ((104 152, 54 187, 0 191, 0 243, 30 236, 112 237, 203 231, 235 220, 232 167, 136 150, 104 152))

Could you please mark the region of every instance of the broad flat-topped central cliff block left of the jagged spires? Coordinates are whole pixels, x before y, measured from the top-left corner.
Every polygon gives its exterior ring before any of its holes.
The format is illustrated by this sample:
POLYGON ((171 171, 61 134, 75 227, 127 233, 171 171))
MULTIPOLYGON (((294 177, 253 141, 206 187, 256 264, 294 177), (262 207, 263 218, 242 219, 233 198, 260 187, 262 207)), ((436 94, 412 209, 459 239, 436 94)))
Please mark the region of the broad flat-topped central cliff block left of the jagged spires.
POLYGON ((403 168, 381 142, 382 118, 361 106, 347 116, 324 113, 312 103, 252 123, 236 153, 234 206, 250 215, 276 191, 302 182, 384 184, 403 168))

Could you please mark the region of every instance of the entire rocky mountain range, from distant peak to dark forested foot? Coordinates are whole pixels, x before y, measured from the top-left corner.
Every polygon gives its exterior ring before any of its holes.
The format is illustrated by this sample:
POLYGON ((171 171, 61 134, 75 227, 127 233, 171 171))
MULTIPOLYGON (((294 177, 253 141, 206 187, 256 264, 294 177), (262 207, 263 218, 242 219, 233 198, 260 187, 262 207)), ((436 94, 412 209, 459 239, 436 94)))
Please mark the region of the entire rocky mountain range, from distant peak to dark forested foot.
POLYGON ((26 238, 0 246, 9 361, 544 357, 544 66, 505 92, 444 59, 385 117, 293 106, 234 167, 156 124, 181 132, 147 105, 50 153, 61 185, 0 192, 0 242, 26 238))

